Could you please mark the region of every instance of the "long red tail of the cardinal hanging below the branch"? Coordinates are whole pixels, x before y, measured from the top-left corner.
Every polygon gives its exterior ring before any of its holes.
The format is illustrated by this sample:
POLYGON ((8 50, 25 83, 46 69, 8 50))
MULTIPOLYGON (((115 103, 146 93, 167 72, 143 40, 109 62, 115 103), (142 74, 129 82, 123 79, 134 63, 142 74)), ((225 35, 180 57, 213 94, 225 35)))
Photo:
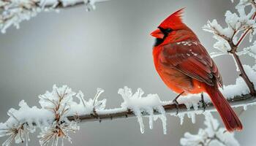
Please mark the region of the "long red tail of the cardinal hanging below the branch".
POLYGON ((243 128, 241 121, 219 89, 217 87, 208 86, 206 87, 206 92, 211 97, 214 107, 216 107, 219 115, 222 117, 227 131, 241 131, 243 128))

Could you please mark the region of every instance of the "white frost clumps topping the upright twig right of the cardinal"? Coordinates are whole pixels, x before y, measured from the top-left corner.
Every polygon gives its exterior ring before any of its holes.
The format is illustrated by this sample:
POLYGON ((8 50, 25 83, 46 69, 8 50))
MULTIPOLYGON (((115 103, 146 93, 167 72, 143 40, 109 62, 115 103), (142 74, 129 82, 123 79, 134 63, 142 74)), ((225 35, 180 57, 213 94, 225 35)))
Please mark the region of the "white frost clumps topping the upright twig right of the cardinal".
MULTIPOLYGON (((230 12, 227 10, 225 14, 225 22, 227 23, 227 27, 222 27, 219 25, 217 20, 208 20, 208 23, 203 26, 204 31, 211 32, 214 34, 214 39, 217 39, 217 42, 214 44, 214 48, 221 51, 221 54, 227 54, 231 47, 230 43, 237 44, 238 43, 238 34, 241 31, 245 31, 249 29, 252 35, 255 34, 255 20, 252 20, 252 17, 255 15, 255 7, 252 7, 250 12, 246 14, 245 7, 248 3, 244 1, 241 4, 238 4, 236 9, 238 10, 238 14, 236 12, 230 12)), ((213 57, 218 56, 216 53, 212 53, 213 57)))

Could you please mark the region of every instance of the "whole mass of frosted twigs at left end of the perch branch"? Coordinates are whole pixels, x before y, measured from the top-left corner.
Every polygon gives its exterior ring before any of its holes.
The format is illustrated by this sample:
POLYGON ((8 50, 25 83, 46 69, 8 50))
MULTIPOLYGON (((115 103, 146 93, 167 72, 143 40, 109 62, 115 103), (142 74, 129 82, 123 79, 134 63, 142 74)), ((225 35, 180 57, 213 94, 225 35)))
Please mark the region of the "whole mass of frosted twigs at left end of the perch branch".
POLYGON ((0 123, 0 137, 9 138, 3 143, 9 146, 13 141, 15 143, 28 142, 29 133, 33 133, 36 128, 40 128, 40 145, 59 144, 59 139, 63 145, 63 139, 71 142, 69 132, 78 131, 79 115, 93 114, 95 111, 104 110, 106 100, 98 101, 102 93, 97 90, 97 96, 94 99, 86 101, 83 99, 83 93, 75 93, 67 85, 57 88, 53 85, 53 91, 47 91, 39 96, 41 108, 29 107, 25 101, 20 101, 20 109, 11 109, 7 113, 10 118, 5 123, 0 123), (75 102, 78 98, 79 102, 75 102), (74 116, 75 120, 68 120, 68 117, 74 116))

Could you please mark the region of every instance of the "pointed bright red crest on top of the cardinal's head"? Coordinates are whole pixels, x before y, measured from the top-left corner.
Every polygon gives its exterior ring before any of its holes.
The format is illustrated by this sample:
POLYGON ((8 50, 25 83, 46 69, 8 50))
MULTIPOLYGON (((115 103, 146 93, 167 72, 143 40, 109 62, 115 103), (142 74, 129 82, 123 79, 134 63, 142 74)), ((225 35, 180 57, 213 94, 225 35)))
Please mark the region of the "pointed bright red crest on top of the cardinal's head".
POLYGON ((184 12, 184 8, 178 9, 178 11, 173 12, 168 18, 162 21, 159 27, 162 28, 173 28, 178 24, 182 23, 181 17, 184 12))

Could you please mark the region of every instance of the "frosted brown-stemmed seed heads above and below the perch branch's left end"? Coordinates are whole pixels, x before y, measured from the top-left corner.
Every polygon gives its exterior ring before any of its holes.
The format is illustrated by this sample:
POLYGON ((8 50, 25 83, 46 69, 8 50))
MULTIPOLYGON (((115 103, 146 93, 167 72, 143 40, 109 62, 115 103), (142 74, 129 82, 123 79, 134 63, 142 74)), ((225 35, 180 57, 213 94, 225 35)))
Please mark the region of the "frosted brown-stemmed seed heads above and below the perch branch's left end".
POLYGON ((52 146, 56 146, 59 138, 68 139, 71 142, 68 132, 75 132, 79 129, 78 122, 67 120, 67 112, 72 104, 72 96, 75 96, 75 92, 72 92, 67 85, 61 88, 53 85, 53 92, 46 92, 44 95, 39 96, 41 107, 53 112, 55 119, 50 126, 42 128, 43 130, 39 134, 39 137, 42 138, 39 140, 40 145, 48 145, 52 141, 52 146))

